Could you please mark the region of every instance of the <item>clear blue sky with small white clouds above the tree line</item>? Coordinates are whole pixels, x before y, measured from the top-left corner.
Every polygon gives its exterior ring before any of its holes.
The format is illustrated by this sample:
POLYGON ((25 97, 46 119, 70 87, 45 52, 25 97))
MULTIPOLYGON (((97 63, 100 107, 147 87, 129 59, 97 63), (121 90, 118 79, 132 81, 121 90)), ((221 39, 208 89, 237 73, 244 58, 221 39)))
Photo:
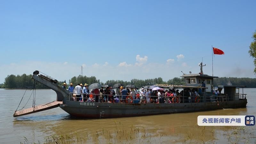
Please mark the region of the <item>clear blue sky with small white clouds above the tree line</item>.
POLYGON ((183 71, 252 77, 256 1, 1 1, 0 83, 40 70, 131 80, 183 71))

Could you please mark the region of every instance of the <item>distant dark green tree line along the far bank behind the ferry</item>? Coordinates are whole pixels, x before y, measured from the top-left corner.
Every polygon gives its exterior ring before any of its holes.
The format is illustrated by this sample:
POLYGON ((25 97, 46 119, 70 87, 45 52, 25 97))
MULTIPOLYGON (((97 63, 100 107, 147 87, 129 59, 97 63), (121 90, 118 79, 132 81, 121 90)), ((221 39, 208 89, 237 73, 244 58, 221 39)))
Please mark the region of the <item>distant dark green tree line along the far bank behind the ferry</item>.
MULTIPOLYGON (((27 86, 33 87, 34 81, 31 79, 32 75, 8 75, 4 79, 4 84, 0 84, 0 88, 26 88, 27 86)), ((63 84, 65 81, 59 81, 59 83, 63 84)), ((214 85, 227 85, 228 82, 231 82, 232 85, 244 85, 248 88, 256 88, 256 79, 255 78, 238 78, 238 77, 219 77, 215 78, 213 81, 214 85)), ((136 87, 140 88, 145 85, 154 85, 154 84, 173 84, 173 85, 184 85, 185 81, 184 78, 174 77, 169 79, 168 81, 164 81, 161 77, 152 78, 152 79, 132 79, 131 81, 123 81, 123 80, 107 80, 105 83, 100 82, 95 76, 73 76, 69 79, 69 84, 73 83, 74 85, 77 84, 93 84, 93 83, 100 83, 100 84, 108 84, 114 85, 116 83, 124 84, 124 86, 128 84, 134 84, 136 87)), ((61 85, 60 85, 61 86, 61 85)), ((67 85, 68 86, 68 85, 67 85)), ((36 83, 37 89, 48 89, 48 87, 44 86, 43 84, 36 83)))

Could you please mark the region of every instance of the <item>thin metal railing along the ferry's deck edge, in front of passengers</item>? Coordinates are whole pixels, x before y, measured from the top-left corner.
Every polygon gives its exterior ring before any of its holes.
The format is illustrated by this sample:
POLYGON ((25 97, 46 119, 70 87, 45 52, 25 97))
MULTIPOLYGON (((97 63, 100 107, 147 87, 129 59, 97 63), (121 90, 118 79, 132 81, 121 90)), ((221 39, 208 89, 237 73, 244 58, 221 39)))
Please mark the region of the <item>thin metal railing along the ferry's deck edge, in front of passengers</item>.
POLYGON ((109 103, 197 103, 197 102, 225 102, 246 99, 246 94, 239 95, 221 95, 221 96, 199 96, 190 97, 188 96, 162 96, 158 99, 158 96, 149 96, 149 100, 146 96, 132 96, 132 95, 108 95, 108 94, 84 94, 84 93, 69 93, 69 101, 80 101, 80 102, 103 102, 109 103), (76 97, 76 94, 81 94, 81 97, 76 97), (238 97, 237 97, 238 96, 238 97), (98 98, 96 98, 98 97, 98 98), (97 100, 97 101, 96 101, 97 100))

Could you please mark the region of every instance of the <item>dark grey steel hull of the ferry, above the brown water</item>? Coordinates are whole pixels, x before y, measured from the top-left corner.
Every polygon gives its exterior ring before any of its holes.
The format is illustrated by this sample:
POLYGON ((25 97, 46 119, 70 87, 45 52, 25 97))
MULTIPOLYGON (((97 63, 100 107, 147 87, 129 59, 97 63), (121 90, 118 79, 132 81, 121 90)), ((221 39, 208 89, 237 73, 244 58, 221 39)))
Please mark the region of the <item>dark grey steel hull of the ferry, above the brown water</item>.
POLYGON ((108 118, 244 108, 246 104, 246 99, 225 102, 146 104, 66 101, 66 104, 60 104, 60 108, 75 117, 108 118))

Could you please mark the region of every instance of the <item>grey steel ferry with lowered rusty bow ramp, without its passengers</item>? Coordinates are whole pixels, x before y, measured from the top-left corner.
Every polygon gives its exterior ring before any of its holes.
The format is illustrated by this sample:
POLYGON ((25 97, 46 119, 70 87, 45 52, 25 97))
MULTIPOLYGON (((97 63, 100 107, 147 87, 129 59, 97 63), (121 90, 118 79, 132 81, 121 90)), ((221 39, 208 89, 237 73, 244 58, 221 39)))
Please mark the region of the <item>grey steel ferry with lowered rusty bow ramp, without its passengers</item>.
POLYGON ((170 97, 165 97, 164 103, 135 103, 136 100, 129 100, 127 103, 121 103, 120 99, 122 99, 122 96, 120 95, 116 95, 116 97, 119 97, 119 102, 117 103, 73 101, 73 93, 60 87, 59 84, 57 84, 57 81, 52 80, 43 74, 39 74, 39 71, 35 71, 32 79, 55 91, 57 94, 56 101, 35 106, 33 108, 15 111, 13 116, 28 115, 56 107, 60 107, 71 116, 82 118, 144 116, 246 107, 247 99, 246 94, 244 94, 243 91, 245 86, 219 86, 218 91, 220 94, 215 96, 213 94, 215 88, 213 86, 213 80, 218 77, 203 74, 202 62, 199 66, 200 73, 189 73, 180 76, 184 78, 185 85, 156 85, 164 89, 174 89, 175 91, 177 89, 183 90, 184 92, 180 103, 175 99, 173 102, 168 100, 170 97), (222 92, 223 88, 224 92, 222 92), (189 100, 188 90, 190 90, 190 92, 197 91, 200 97, 196 97, 195 100, 192 99, 192 101, 189 100))

